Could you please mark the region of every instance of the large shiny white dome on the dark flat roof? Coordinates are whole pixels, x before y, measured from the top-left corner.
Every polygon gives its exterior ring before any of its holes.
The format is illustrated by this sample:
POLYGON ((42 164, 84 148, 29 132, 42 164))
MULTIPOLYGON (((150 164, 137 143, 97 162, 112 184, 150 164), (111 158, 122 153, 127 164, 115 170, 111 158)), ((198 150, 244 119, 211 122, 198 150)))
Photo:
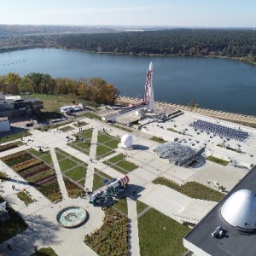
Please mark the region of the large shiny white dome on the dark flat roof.
POLYGON ((253 191, 236 191, 224 202, 220 212, 230 225, 245 230, 256 230, 256 196, 253 191))

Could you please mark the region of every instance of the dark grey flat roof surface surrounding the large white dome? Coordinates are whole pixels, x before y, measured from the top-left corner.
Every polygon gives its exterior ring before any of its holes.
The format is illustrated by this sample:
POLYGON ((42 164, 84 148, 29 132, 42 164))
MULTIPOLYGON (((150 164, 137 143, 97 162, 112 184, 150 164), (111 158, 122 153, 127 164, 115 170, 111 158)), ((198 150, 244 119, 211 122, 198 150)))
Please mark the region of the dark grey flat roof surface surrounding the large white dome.
POLYGON ((251 172, 241 179, 241 182, 236 184, 236 187, 218 203, 193 230, 184 237, 185 240, 191 242, 196 247, 210 255, 226 256, 255 256, 256 255, 256 234, 246 233, 237 230, 236 227, 227 223, 221 215, 221 207, 224 202, 230 198, 236 191, 241 189, 249 189, 256 192, 256 167, 251 172), (224 230, 225 236, 223 238, 215 238, 212 232, 221 226, 224 230))

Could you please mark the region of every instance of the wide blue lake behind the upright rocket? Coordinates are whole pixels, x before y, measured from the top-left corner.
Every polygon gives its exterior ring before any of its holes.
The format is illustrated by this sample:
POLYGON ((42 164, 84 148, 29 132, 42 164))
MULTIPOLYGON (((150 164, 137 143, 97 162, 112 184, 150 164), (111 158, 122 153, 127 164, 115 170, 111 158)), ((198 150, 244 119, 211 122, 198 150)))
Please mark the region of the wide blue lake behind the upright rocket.
POLYGON ((154 66, 154 100, 201 108, 256 113, 256 67, 241 61, 180 56, 94 54, 65 49, 24 49, 0 54, 0 75, 49 73, 54 78, 100 77, 121 96, 143 97, 154 66))

